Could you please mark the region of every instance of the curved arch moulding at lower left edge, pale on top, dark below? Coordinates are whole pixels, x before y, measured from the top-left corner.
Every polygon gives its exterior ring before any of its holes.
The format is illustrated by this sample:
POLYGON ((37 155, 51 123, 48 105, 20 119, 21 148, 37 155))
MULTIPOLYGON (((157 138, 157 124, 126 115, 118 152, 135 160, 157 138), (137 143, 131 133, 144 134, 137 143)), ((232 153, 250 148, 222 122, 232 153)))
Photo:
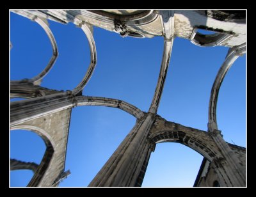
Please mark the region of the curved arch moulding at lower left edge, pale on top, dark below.
POLYGON ((49 136, 49 134, 47 134, 45 130, 39 127, 35 127, 32 125, 16 125, 11 127, 11 130, 18 130, 18 129, 26 129, 26 130, 35 132, 36 134, 38 134, 38 136, 40 136, 44 140, 44 143, 46 145, 46 150, 42 158, 42 161, 40 162, 38 168, 35 171, 35 174, 33 175, 33 177, 31 178, 28 184, 28 187, 36 187, 38 186, 38 184, 40 184, 40 181, 44 177, 47 168, 51 164, 51 160, 54 156, 54 150, 56 149, 56 146, 54 144, 54 141, 51 139, 51 136, 49 136))

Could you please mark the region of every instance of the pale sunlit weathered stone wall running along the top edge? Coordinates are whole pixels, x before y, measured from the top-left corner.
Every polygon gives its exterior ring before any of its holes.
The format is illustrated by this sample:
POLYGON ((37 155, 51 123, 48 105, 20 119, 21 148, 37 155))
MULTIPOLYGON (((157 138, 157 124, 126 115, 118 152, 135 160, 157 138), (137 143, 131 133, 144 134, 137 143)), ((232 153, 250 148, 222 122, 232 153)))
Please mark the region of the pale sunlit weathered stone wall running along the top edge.
MULTIPOLYGON (((128 31, 137 34, 133 35, 134 37, 140 37, 138 35, 142 35, 142 37, 152 38, 163 35, 163 19, 161 19, 158 10, 145 10, 148 13, 148 17, 145 17, 141 12, 133 12, 134 15, 141 16, 137 18, 126 12, 111 11, 111 13, 100 10, 13 10, 13 12, 30 18, 38 16, 61 23, 74 22, 76 25, 84 21, 93 26, 114 32, 116 32, 115 22, 118 20, 127 26, 128 31)), ((230 19, 228 19, 226 16, 227 13, 225 12, 219 12, 219 17, 216 17, 217 14, 215 12, 217 10, 212 11, 211 14, 207 10, 172 10, 172 12, 175 36, 190 40, 193 30, 198 28, 230 35, 227 40, 223 40, 223 42, 217 45, 234 47, 246 42, 246 10, 234 12, 232 15, 233 18, 231 17, 230 19), (223 15, 223 20, 220 19, 221 15, 223 15)), ((129 36, 132 36, 132 34, 129 36)))

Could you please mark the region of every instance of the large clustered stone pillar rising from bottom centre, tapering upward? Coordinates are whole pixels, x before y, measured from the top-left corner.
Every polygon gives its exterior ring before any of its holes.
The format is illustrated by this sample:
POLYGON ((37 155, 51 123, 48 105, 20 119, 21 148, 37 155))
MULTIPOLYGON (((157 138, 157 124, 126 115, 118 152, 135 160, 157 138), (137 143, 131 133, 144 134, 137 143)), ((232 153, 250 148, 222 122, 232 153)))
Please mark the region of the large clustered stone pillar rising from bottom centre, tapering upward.
POLYGON ((89 187, 134 187, 141 185, 152 145, 147 139, 155 115, 138 121, 114 154, 93 178, 89 187))

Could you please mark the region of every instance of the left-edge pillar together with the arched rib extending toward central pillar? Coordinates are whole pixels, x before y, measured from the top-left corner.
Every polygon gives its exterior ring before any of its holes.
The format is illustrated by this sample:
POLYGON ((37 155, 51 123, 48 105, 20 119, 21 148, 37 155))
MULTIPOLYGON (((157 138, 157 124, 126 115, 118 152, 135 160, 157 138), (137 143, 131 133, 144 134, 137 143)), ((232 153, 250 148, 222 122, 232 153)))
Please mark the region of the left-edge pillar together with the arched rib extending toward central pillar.
POLYGON ((14 125, 39 118, 40 116, 76 106, 116 107, 132 114, 132 116, 136 118, 144 116, 144 113, 140 109, 122 100, 104 97, 74 97, 71 91, 67 91, 46 95, 44 97, 11 102, 10 126, 13 127, 14 125))

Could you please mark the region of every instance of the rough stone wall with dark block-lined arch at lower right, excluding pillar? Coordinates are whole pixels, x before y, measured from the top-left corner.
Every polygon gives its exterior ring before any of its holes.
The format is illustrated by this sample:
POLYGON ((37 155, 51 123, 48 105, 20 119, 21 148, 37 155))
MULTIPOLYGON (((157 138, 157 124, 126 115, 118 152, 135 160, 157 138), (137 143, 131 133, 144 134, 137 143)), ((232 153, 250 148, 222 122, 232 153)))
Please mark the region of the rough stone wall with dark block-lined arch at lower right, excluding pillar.
MULTIPOLYGON (((195 187, 218 187, 216 185, 227 187, 234 184, 234 179, 228 176, 230 172, 227 172, 233 167, 232 164, 227 161, 225 152, 223 152, 214 141, 214 135, 214 132, 205 132, 204 130, 168 122, 157 115, 148 138, 152 143, 181 143, 204 156, 204 161, 202 162, 198 177, 195 181, 195 187)), ((235 162, 239 161, 237 164, 241 165, 241 169, 236 169, 234 172, 245 172, 246 148, 229 143, 227 144, 230 146, 231 151, 235 153, 235 162)), ((233 186, 236 186, 236 184, 233 186)))

